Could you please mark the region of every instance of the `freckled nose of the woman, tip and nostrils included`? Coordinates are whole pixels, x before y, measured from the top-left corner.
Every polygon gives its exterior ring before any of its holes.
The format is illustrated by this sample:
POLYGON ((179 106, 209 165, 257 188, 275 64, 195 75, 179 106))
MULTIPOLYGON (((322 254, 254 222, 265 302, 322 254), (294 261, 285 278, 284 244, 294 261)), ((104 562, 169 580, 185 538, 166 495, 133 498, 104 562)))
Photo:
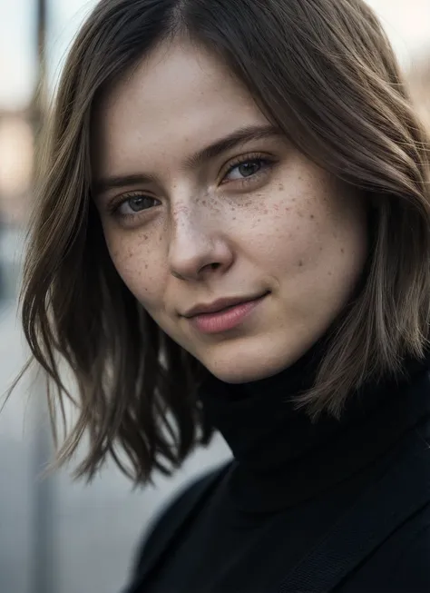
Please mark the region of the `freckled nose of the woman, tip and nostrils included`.
POLYGON ((175 278, 204 280, 230 268, 234 256, 220 220, 192 206, 176 212, 173 219, 169 266, 175 278))

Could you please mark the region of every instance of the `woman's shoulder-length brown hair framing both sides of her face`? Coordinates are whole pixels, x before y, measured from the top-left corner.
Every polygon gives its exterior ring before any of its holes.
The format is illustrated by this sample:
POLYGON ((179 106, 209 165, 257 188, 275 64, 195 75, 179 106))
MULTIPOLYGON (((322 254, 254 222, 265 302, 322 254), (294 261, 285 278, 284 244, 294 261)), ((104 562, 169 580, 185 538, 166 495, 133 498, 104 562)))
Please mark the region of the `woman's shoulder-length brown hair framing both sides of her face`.
POLYGON ((428 139, 396 58, 362 0, 102 0, 74 41, 44 142, 23 323, 35 361, 78 417, 58 445, 89 451, 77 475, 113 456, 135 482, 171 472, 210 440, 201 365, 151 320, 115 271, 92 203, 97 99, 158 44, 187 35, 217 54, 298 150, 372 204, 361 292, 330 336, 298 405, 339 415, 369 378, 421 358, 430 305, 428 139), (66 361, 78 397, 60 369, 66 361), (125 460, 124 460, 125 454, 125 460))

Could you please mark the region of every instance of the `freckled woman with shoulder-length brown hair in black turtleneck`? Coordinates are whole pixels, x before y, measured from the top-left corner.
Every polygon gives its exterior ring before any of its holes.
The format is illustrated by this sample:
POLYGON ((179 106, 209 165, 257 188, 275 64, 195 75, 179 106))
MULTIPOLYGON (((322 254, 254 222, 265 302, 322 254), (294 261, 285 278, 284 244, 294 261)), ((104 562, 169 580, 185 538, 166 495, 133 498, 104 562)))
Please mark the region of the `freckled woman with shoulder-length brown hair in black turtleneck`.
POLYGON ((45 143, 35 359, 137 482, 144 591, 430 590, 428 139, 361 0, 103 0, 45 143))

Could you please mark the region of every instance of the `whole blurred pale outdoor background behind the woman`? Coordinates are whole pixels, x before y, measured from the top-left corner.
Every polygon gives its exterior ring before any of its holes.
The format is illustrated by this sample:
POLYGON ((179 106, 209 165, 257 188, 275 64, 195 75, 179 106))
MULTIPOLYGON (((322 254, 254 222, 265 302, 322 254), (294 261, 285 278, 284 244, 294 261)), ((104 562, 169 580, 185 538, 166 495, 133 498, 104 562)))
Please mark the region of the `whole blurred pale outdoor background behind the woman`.
MULTIPOLYGON (((0 393, 28 351, 16 297, 32 207, 34 135, 64 55, 94 0, 0 0, 0 393)), ((430 126, 430 0, 371 0, 430 126)), ((0 400, 0 404, 3 400, 0 400)), ((132 489, 112 465, 90 485, 51 455, 44 391, 31 377, 0 413, 0 593, 119 593, 148 521, 174 490, 229 456, 217 437, 172 479, 132 489)))

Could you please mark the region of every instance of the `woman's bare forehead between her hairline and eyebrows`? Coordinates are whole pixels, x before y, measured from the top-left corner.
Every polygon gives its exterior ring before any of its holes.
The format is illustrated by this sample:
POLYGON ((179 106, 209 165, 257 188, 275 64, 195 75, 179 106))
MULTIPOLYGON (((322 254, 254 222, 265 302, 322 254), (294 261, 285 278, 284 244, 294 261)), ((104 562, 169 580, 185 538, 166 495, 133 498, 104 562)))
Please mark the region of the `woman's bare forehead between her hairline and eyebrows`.
POLYGON ((93 124, 98 161, 130 168, 131 159, 192 152, 267 119, 226 66, 182 42, 162 45, 142 60, 103 97, 93 124))

